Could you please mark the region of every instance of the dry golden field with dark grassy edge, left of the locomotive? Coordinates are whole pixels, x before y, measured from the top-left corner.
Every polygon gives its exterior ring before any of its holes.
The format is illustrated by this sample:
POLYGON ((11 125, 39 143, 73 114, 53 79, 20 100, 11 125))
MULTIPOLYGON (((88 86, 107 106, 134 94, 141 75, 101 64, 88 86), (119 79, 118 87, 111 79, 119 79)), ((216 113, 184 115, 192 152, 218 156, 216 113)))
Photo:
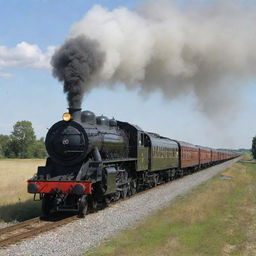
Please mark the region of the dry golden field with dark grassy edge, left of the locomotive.
POLYGON ((27 193, 27 179, 44 165, 42 159, 0 160, 0 222, 22 221, 40 213, 40 203, 27 193))

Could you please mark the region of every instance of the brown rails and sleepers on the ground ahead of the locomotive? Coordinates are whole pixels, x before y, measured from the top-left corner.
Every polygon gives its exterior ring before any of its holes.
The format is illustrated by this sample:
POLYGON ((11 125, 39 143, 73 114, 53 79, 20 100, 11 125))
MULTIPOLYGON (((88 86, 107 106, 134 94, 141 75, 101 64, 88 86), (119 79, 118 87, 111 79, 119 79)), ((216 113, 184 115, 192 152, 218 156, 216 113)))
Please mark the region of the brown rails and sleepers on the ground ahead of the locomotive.
POLYGON ((0 248, 14 244, 22 239, 29 238, 54 228, 68 224, 78 219, 77 216, 66 218, 52 218, 42 220, 40 217, 33 218, 16 225, 0 229, 0 248))

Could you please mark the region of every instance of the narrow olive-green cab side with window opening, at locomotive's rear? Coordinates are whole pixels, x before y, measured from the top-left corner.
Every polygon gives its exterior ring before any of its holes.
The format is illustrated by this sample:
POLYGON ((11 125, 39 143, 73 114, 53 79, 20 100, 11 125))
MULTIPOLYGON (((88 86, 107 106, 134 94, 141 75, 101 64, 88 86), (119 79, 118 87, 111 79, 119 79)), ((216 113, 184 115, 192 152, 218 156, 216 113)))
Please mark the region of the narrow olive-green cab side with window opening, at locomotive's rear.
POLYGON ((148 138, 145 133, 138 132, 138 147, 137 147, 137 171, 148 170, 148 138))

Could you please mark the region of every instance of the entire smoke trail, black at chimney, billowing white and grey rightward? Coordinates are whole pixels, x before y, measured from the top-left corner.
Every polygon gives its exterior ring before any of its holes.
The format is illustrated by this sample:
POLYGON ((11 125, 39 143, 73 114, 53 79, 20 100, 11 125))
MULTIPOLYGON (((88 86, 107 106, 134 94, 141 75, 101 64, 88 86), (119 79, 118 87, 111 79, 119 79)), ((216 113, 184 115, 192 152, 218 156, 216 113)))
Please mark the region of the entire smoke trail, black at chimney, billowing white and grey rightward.
POLYGON ((239 88, 255 79, 255 20, 250 1, 179 7, 152 0, 112 11, 96 5, 53 57, 54 74, 71 105, 93 87, 123 83, 168 99, 193 93, 215 118, 236 110, 239 88))

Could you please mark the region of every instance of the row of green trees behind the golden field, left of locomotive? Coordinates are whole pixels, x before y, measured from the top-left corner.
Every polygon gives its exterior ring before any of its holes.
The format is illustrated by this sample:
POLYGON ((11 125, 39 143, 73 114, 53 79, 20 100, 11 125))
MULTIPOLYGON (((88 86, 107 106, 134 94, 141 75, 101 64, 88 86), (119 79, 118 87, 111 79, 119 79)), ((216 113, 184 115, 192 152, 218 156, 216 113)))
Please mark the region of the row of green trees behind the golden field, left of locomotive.
POLYGON ((11 135, 0 134, 0 158, 45 158, 44 138, 36 139, 30 121, 18 121, 11 135))

